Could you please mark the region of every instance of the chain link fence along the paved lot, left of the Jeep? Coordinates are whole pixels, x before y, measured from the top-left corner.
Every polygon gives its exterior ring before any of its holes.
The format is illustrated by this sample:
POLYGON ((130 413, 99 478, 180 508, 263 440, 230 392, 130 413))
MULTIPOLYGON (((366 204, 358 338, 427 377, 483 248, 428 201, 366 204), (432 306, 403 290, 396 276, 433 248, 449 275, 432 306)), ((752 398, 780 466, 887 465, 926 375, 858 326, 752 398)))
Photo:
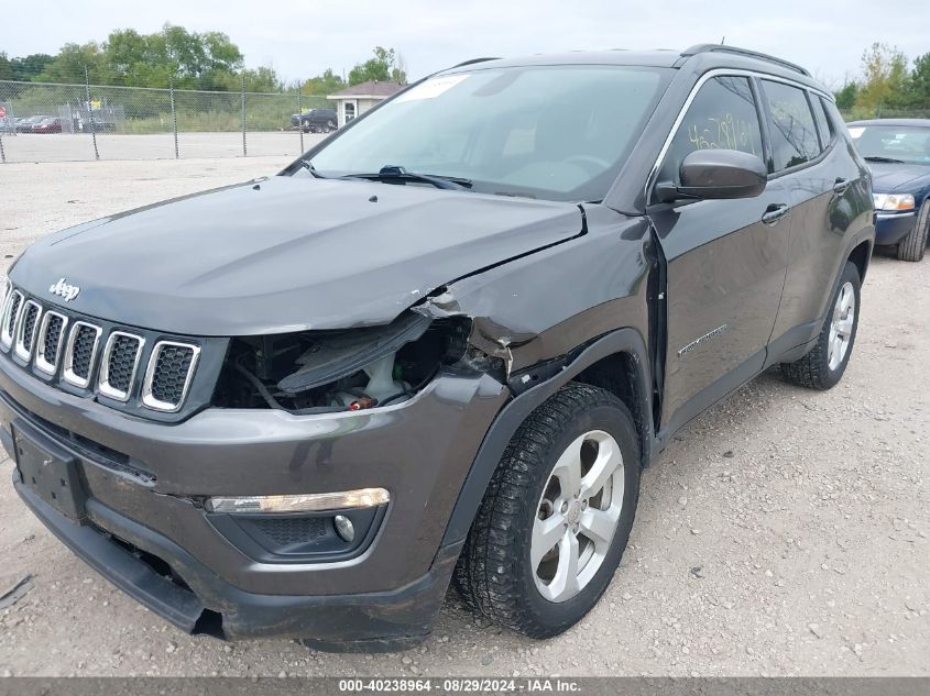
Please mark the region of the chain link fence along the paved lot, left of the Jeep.
POLYGON ((0 163, 297 156, 298 91, 249 92, 0 80, 0 163))

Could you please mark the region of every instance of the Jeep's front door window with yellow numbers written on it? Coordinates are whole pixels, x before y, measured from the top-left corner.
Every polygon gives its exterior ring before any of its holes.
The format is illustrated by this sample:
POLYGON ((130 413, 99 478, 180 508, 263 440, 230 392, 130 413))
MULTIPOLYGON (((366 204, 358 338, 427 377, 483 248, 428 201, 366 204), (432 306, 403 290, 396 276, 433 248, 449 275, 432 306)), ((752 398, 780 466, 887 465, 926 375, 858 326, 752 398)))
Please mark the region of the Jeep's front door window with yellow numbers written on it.
POLYGON ((671 140, 657 180, 680 184, 681 162, 698 150, 738 150, 763 159, 758 110, 748 78, 721 76, 704 82, 671 140))

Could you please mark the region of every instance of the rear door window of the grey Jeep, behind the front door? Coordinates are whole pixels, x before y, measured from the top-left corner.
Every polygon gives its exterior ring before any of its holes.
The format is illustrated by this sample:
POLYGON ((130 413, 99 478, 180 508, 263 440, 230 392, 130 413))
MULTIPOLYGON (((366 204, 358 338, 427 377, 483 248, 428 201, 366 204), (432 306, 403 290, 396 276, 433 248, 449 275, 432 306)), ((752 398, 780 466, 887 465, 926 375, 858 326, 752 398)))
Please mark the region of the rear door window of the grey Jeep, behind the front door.
POLYGON ((796 167, 817 157, 820 142, 805 91, 772 80, 762 80, 762 84, 770 113, 768 130, 775 170, 796 167))

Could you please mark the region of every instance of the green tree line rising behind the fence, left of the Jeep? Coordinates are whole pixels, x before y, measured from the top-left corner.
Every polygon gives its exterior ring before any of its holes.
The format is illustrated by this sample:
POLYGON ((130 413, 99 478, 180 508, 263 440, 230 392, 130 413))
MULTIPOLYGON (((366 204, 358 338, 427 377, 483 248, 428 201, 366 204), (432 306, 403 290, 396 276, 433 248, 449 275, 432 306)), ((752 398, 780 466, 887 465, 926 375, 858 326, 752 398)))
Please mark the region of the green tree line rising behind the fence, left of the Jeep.
POLYGON ((272 67, 247 68, 244 56, 222 32, 192 32, 165 24, 140 34, 132 29, 110 32, 107 41, 68 43, 56 55, 36 53, 10 58, 0 52, 0 80, 84 82, 128 87, 289 92, 327 96, 368 80, 406 82, 406 67, 394 48, 378 46, 343 79, 331 68, 304 82, 285 85, 272 67))

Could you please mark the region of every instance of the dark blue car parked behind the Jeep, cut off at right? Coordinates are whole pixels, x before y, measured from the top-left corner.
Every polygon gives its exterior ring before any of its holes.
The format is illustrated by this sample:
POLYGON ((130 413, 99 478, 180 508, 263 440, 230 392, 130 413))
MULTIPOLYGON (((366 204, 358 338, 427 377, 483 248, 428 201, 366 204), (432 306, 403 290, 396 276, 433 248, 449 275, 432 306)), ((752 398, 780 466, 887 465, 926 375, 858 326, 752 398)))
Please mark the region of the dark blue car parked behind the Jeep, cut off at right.
POLYGON ((847 123, 872 169, 875 243, 896 246, 898 258, 920 261, 930 233, 930 119, 847 123))

